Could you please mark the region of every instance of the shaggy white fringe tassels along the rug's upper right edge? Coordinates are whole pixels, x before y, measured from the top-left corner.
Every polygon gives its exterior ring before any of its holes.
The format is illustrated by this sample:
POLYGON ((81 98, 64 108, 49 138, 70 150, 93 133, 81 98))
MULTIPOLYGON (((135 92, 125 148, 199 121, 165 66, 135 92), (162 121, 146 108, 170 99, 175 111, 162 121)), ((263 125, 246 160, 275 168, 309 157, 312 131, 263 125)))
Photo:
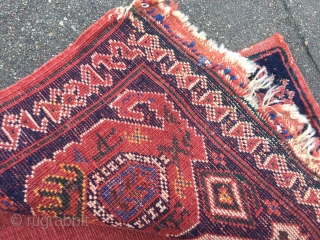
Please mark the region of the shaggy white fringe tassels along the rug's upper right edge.
MULTIPOLYGON (((134 1, 127 8, 125 13, 127 13, 130 10, 130 8, 134 5, 135 2, 136 1, 134 1)), ((165 15, 168 15, 171 12, 171 7, 165 5, 164 2, 165 0, 158 0, 158 7, 164 11, 165 15)), ((207 40, 205 32, 198 32, 199 28, 188 22, 188 16, 186 16, 180 11, 173 11, 171 12, 171 14, 177 17, 181 21, 181 23, 183 23, 184 26, 188 28, 189 32, 192 33, 193 36, 202 41, 207 40)), ((219 47, 218 44, 212 39, 207 40, 204 44, 209 48, 209 50, 211 49, 213 51, 225 54, 226 60, 230 63, 240 65, 246 71, 247 76, 251 76, 258 69, 258 66, 253 61, 243 57, 239 53, 227 50, 223 44, 221 44, 221 46, 219 47)), ((265 109, 266 107, 272 108, 273 104, 282 102, 281 100, 271 101, 272 97, 277 93, 278 88, 277 86, 271 87, 273 82, 274 76, 269 76, 265 67, 261 68, 255 75, 254 79, 250 81, 247 89, 247 94, 244 96, 245 100, 247 100, 255 109, 265 109), (260 75, 262 76, 260 77, 260 75), (268 91, 264 96, 262 106, 259 106, 257 92, 261 89, 268 89, 268 91)), ((316 142, 314 137, 315 130, 312 128, 307 117, 299 112, 297 106, 283 104, 282 109, 284 112, 290 113, 290 117, 292 119, 296 120, 298 123, 303 123, 306 125, 306 129, 302 133, 300 133, 300 135, 297 138, 289 140, 289 143, 291 144, 295 153, 298 156, 300 156, 311 169, 313 169, 316 172, 319 172, 320 167, 317 166, 317 164, 313 164, 313 160, 319 161, 320 158, 316 158, 311 155, 311 152, 314 149, 316 142)), ((277 111, 275 112, 278 116, 282 115, 277 111)))

